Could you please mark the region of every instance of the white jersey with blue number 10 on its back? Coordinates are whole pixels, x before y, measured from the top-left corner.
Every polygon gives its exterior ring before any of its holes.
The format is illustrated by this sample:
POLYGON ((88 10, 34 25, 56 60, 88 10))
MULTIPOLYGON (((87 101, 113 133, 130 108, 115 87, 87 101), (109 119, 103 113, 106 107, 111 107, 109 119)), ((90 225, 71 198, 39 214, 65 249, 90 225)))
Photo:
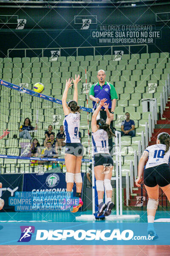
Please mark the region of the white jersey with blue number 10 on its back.
POLYGON ((166 150, 166 145, 164 144, 156 144, 149 146, 145 149, 145 151, 149 152, 148 160, 145 166, 145 169, 159 166, 161 164, 167 163, 170 164, 170 148, 166 154, 164 154, 166 150))

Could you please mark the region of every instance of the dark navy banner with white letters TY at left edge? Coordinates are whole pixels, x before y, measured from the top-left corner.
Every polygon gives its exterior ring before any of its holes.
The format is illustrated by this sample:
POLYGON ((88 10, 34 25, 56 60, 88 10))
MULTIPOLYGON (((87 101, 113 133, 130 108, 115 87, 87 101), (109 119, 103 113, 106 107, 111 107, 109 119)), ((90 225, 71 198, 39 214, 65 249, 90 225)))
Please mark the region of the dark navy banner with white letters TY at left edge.
MULTIPOLYGON (((0 198, 4 200, 3 210, 14 211, 14 206, 8 204, 9 197, 14 197, 15 192, 22 191, 23 175, 22 174, 2 174, 0 175, 0 182, 2 188, 0 188, 0 198)), ((2 210, 1 210, 2 211, 2 210)))

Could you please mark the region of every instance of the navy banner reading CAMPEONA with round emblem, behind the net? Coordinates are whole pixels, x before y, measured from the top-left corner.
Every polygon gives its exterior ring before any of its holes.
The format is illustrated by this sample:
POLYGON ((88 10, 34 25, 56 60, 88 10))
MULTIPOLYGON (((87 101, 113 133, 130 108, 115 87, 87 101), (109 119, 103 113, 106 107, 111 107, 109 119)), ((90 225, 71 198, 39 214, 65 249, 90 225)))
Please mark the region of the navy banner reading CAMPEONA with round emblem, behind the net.
MULTIPOLYGON (((82 182, 84 183, 85 174, 82 173, 82 182)), ((78 202, 67 201, 70 199, 68 195, 63 195, 66 192, 66 182, 65 182, 65 173, 44 173, 43 175, 37 175, 36 173, 24 174, 23 179, 23 192, 32 192, 32 197, 27 195, 24 199, 27 201, 23 201, 22 204, 18 204, 20 201, 21 195, 16 195, 16 201, 10 201, 10 204, 14 205, 15 202, 15 210, 19 212, 26 211, 70 211, 71 206, 77 205, 78 202), (37 195, 36 192, 40 194, 37 195), (46 194, 48 193, 48 195, 46 194), (37 197, 37 198, 36 198, 37 197), (58 201, 58 199, 63 199, 62 201, 58 201), (17 201, 19 199, 19 201, 17 201), (29 200, 30 199, 30 200, 29 200), (49 200, 48 200, 49 199, 49 200)), ((83 191, 83 187, 82 187, 83 191)), ((76 184, 73 186, 73 196, 76 195, 76 184)), ((24 194, 25 196, 25 194, 24 194)), ((23 198, 23 197, 22 197, 23 198)))

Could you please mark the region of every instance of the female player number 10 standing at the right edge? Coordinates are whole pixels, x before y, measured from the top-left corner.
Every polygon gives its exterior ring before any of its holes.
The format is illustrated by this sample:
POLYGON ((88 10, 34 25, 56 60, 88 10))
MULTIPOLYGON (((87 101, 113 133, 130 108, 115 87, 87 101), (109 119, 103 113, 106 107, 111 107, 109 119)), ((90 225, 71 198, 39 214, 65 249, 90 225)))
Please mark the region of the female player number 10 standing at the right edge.
POLYGON ((149 146, 145 149, 139 160, 138 178, 136 186, 140 187, 142 173, 144 169, 144 186, 148 194, 147 202, 147 221, 148 233, 158 238, 154 231, 153 222, 155 219, 156 209, 159 204, 159 186, 170 201, 170 135, 160 133, 156 140, 156 145, 149 146), (147 163, 144 168, 144 164, 147 163))

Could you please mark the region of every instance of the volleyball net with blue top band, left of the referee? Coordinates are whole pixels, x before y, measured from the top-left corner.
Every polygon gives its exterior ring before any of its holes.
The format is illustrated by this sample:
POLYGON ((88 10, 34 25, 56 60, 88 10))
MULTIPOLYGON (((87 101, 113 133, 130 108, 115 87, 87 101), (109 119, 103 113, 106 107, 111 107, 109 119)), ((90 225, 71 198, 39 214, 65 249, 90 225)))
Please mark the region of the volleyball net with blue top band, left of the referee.
MULTIPOLYGON (((3 134, 3 130, 8 129, 10 131, 10 134, 0 140, 0 157, 48 161, 64 160, 64 145, 58 147, 57 157, 43 158, 42 154, 45 149, 45 131, 48 131, 48 126, 52 125, 55 139, 60 132, 60 126, 64 119, 62 101, 1 79, 0 89, 0 135, 3 134), (31 131, 21 134, 19 129, 22 128, 27 118, 33 128, 31 131), (36 125, 37 129, 34 129, 36 125), (39 149, 32 157, 34 139, 38 140, 39 149)), ((72 91, 73 89, 69 91, 68 101, 73 99, 72 91)), ((62 93, 60 91, 60 95, 62 93)), ((92 112, 92 109, 81 106, 81 110, 79 138, 84 147, 82 161, 88 162, 91 159, 91 136, 89 139, 88 132, 88 118, 91 126, 91 113, 88 114, 88 112, 92 112)))

